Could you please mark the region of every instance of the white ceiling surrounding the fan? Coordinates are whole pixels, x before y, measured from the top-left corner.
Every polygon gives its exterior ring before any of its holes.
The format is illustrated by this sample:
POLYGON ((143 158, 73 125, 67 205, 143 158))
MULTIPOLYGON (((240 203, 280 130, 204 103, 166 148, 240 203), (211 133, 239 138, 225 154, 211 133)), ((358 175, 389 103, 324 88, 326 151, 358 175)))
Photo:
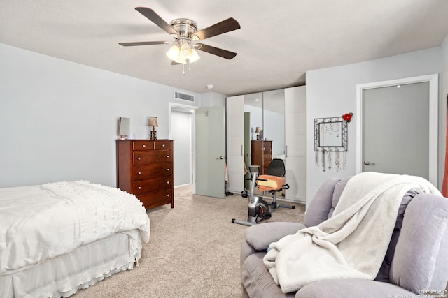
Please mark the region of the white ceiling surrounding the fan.
POLYGON ((437 47, 448 34, 447 0, 0 0, 0 43, 187 91, 237 95, 305 83, 308 70, 437 47), (241 29, 203 41, 237 52, 199 52, 186 69, 165 56, 174 40, 134 8, 204 29, 234 17, 241 29), (214 89, 207 89, 213 84, 214 89))

